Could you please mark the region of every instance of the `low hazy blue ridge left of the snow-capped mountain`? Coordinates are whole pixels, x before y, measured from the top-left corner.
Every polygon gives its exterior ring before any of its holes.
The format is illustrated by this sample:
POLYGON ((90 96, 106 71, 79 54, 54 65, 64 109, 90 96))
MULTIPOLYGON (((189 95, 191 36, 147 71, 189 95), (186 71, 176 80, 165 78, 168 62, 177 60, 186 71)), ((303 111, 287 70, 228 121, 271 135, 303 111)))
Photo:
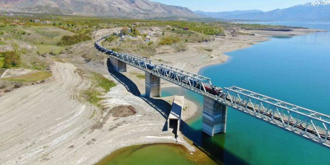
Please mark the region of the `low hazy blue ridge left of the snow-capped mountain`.
POLYGON ((223 12, 204 12, 204 11, 194 11, 195 14, 201 17, 211 17, 211 18, 226 18, 229 16, 240 15, 240 14, 250 14, 250 13, 262 13, 261 10, 235 10, 235 11, 223 11, 223 12))

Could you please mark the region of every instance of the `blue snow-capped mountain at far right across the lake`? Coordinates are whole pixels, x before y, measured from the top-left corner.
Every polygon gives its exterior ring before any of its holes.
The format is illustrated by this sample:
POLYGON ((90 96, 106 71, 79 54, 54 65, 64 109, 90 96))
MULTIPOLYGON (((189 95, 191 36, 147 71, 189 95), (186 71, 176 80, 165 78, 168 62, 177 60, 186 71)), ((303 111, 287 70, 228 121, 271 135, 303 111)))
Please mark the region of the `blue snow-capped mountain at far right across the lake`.
POLYGON ((260 21, 330 21, 330 0, 314 1, 268 12, 233 14, 220 18, 260 21))

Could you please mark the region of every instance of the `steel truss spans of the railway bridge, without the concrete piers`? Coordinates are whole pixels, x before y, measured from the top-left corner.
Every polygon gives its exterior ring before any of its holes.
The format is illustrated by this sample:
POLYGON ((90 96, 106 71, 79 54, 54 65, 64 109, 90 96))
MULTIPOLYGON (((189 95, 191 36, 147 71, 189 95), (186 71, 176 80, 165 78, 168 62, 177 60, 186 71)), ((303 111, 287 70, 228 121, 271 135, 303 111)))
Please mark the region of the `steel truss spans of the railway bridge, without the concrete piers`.
POLYGON ((129 53, 117 53, 99 45, 99 41, 107 36, 109 35, 97 39, 95 46, 100 51, 110 54, 111 58, 149 72, 204 97, 215 99, 226 106, 330 149, 329 115, 235 86, 224 88, 223 93, 219 96, 209 94, 206 92, 204 84, 212 85, 210 78, 164 64, 148 68, 148 65, 152 65, 152 61, 149 59, 129 53), (196 84, 192 84, 192 81, 196 84))

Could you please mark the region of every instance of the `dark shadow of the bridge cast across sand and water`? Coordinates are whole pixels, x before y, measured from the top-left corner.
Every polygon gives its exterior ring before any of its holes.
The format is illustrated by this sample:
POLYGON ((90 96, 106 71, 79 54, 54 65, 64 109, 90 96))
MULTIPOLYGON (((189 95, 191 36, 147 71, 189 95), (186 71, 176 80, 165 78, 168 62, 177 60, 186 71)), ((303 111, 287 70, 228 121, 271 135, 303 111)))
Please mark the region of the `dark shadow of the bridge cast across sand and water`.
MULTIPOLYGON (((117 72, 114 67, 110 64, 109 59, 107 60, 107 67, 110 75, 120 82, 124 87, 131 92, 134 96, 137 96, 147 102, 155 110, 157 110, 167 120, 170 113, 171 104, 163 99, 145 98, 141 95, 136 84, 126 77, 124 74, 117 72)), ((167 130, 167 122, 165 122, 163 131, 167 130)), ((220 165, 250 165, 244 160, 239 159, 237 156, 232 154, 230 151, 224 148, 225 135, 218 134, 216 137, 210 137, 201 130, 197 130, 185 121, 181 120, 180 130, 183 135, 193 141, 194 146, 199 148, 202 152, 208 155, 211 159, 220 165)))

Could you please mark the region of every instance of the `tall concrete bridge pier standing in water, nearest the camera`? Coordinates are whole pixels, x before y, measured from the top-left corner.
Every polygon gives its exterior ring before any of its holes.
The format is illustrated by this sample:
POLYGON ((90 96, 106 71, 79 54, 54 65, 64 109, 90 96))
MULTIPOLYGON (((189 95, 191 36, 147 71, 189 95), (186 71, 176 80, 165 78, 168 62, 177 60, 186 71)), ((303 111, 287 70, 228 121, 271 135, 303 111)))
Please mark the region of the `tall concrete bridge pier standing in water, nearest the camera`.
POLYGON ((203 132, 210 136, 226 132, 227 106, 214 99, 204 97, 203 100, 203 132))

